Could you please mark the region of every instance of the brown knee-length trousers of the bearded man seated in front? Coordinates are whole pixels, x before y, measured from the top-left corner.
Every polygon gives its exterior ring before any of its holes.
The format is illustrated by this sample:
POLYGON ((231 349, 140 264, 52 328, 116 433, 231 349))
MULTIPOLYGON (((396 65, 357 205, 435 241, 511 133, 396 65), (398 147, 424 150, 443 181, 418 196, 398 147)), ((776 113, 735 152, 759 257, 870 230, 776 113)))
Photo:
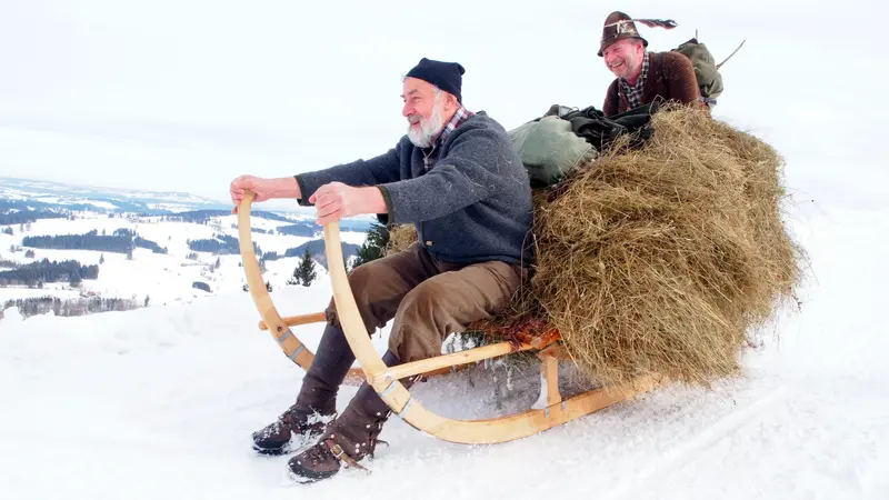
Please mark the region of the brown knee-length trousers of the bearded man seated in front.
MULTIPOLYGON (((441 262, 417 242, 357 267, 349 284, 368 333, 394 319, 389 350, 406 363, 439 356, 450 333, 509 306, 523 277, 521 267, 500 261, 441 262)), ((326 313, 339 327, 332 299, 326 313)))

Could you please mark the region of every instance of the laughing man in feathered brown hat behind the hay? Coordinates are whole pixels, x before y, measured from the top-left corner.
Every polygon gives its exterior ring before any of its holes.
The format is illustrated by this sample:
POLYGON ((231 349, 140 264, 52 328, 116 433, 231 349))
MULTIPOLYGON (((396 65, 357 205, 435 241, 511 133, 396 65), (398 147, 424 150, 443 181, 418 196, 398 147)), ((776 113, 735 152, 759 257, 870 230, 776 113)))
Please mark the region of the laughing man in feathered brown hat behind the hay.
POLYGON ((602 28, 599 57, 617 77, 602 104, 606 117, 622 113, 657 99, 701 106, 698 78, 691 61, 679 52, 649 52, 648 41, 623 12, 611 12, 602 28))

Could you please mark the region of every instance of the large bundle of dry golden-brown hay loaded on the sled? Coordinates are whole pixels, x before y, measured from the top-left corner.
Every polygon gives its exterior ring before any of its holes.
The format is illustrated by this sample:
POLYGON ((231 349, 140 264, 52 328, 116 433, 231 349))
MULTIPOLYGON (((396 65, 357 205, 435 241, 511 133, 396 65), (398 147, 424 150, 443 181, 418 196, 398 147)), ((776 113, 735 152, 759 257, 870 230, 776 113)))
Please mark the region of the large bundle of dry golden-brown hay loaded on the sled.
POLYGON ((687 107, 651 126, 645 147, 623 138, 552 202, 537 194, 521 307, 540 308, 591 378, 706 386, 737 373, 748 336, 793 303, 805 254, 771 147, 687 107))

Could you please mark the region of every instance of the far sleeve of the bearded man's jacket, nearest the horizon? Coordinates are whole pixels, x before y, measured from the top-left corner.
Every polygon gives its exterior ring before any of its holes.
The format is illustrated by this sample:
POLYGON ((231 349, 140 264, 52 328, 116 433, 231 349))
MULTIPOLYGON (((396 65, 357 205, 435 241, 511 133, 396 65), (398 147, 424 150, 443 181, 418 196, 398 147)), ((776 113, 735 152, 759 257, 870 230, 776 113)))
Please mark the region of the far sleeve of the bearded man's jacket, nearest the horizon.
POLYGON ((309 197, 311 197, 318 188, 330 182, 342 182, 349 186, 361 187, 397 181, 400 178, 399 150, 400 147, 397 146, 370 160, 358 160, 351 163, 338 164, 329 169, 293 176, 299 184, 299 192, 302 194, 302 198, 298 200, 299 204, 310 207, 309 197))

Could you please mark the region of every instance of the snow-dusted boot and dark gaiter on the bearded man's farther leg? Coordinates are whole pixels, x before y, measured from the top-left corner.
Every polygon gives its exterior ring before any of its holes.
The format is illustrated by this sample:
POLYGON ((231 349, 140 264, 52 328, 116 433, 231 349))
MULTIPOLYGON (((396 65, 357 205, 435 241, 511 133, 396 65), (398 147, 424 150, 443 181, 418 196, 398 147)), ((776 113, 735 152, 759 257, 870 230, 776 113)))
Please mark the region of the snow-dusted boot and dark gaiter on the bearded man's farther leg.
POLYGON ((342 330, 328 324, 297 402, 278 420, 253 432, 253 450, 284 454, 321 437, 337 417, 337 392, 353 361, 342 330))

